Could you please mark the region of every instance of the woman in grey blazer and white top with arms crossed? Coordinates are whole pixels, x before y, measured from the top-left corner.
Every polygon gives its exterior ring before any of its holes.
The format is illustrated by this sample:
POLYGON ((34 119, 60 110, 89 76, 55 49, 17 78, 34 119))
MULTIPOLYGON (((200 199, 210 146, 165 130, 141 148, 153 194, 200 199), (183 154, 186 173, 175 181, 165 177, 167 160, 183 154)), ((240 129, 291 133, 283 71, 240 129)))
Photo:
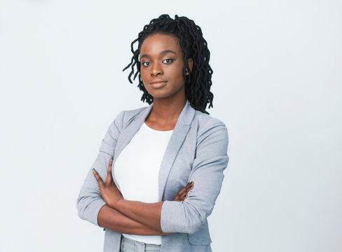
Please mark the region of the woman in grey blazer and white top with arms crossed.
POLYGON ((207 216, 228 164, 228 135, 205 111, 213 98, 207 43, 192 20, 160 15, 131 48, 128 79, 139 75, 150 106, 123 111, 109 126, 78 215, 106 229, 104 251, 211 251, 207 216))

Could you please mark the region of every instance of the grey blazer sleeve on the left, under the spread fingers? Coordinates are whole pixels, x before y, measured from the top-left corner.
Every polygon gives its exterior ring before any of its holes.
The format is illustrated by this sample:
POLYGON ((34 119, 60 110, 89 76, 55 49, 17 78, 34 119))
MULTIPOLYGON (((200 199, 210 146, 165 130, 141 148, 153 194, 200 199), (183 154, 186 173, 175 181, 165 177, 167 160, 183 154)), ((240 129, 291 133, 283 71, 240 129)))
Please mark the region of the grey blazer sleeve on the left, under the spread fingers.
POLYGON ((102 199, 99 185, 92 170, 94 168, 105 181, 107 177, 109 161, 114 157, 116 142, 118 141, 118 136, 122 129, 123 116, 124 112, 121 112, 115 118, 114 122, 109 125, 109 129, 104 135, 104 139, 102 139, 100 153, 97 155, 95 162, 90 168, 78 195, 76 203, 78 216, 95 225, 98 225, 97 216, 100 209, 104 206, 104 204, 106 204, 106 202, 104 202, 102 199))

